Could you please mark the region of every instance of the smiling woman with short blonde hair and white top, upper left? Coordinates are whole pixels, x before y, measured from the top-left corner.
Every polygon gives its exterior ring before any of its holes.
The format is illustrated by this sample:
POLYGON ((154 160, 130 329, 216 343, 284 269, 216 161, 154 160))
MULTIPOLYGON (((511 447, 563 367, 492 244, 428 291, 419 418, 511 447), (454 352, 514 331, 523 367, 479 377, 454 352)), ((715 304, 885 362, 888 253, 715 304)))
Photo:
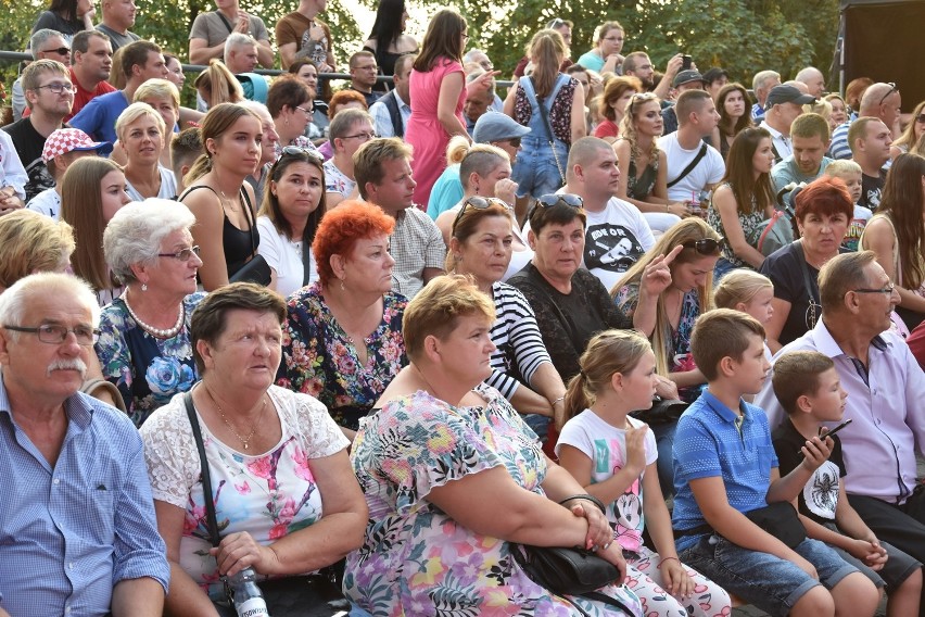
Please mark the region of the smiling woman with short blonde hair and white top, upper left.
MULTIPOLYGON (((174 172, 161 166, 164 118, 148 103, 131 103, 116 121, 116 135, 126 155, 125 192, 132 201, 177 194, 174 172)), ((173 128, 173 127, 172 127, 173 128)))

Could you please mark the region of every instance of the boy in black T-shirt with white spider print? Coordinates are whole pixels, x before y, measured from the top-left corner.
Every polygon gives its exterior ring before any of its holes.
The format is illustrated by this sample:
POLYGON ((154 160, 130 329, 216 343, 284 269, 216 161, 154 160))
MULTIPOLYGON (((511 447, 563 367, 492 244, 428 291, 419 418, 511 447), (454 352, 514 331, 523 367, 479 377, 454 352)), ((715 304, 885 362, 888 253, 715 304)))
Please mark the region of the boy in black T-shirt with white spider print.
MULTIPOLYGON (((821 435, 823 423, 837 423, 845 414, 848 392, 835 363, 818 351, 793 351, 774 363, 774 394, 787 419, 774 431, 774 450, 781 473, 801 464, 802 444, 821 435)), ((846 427, 845 430, 851 430, 846 427)), ((831 437, 832 455, 812 475, 799 494, 799 511, 807 536, 835 549, 842 559, 861 570, 877 588, 889 593, 887 615, 917 615, 922 592, 922 564, 883 543, 864 524, 845 494, 841 440, 831 437)))

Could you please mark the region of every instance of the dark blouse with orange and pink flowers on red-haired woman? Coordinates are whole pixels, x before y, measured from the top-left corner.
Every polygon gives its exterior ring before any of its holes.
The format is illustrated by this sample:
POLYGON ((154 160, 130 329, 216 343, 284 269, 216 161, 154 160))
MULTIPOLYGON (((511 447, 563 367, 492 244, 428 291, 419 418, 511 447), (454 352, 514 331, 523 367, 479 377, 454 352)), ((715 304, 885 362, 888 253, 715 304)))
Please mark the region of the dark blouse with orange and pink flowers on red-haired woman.
POLYGON ((398 293, 383 297, 382 322, 366 339, 366 364, 360 364, 356 348, 325 303, 320 284, 296 291, 289 297, 277 383, 316 396, 337 424, 355 430, 408 363, 402 336, 407 303, 398 293))

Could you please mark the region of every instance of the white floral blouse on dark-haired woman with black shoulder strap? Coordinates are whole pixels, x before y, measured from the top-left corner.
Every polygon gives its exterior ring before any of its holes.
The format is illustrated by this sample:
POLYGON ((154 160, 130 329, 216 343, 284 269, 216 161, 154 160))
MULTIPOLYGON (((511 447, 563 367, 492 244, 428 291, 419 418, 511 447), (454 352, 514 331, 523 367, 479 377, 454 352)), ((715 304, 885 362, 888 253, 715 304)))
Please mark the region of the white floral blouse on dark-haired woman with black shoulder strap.
MULTIPOLYGON (((276 386, 269 395, 282 428, 279 443, 269 452, 242 454, 213 437, 199 418, 219 533, 246 531, 264 545, 321 519, 324 495, 312 461, 350 445, 315 399, 276 386)), ((208 554, 202 467, 182 394, 152 414, 141 427, 141 439, 154 499, 186 511, 180 567, 210 596, 221 597, 224 585, 215 557, 208 554)))

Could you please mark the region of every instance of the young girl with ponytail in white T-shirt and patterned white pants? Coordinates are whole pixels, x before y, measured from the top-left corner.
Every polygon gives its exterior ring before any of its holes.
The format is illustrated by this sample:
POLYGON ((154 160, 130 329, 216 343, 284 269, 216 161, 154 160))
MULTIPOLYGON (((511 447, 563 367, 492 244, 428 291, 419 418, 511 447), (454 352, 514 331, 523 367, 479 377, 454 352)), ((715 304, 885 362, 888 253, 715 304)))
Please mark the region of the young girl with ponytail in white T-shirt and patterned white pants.
POLYGON ((570 419, 556 453, 584 490, 604 502, 613 538, 626 556, 626 579, 646 615, 726 613, 728 594, 677 558, 656 470, 655 437, 646 424, 630 417, 649 407, 656 391, 649 341, 633 330, 606 330, 588 342, 580 365, 566 392, 570 419), (658 552, 643 545, 646 519, 658 552))

